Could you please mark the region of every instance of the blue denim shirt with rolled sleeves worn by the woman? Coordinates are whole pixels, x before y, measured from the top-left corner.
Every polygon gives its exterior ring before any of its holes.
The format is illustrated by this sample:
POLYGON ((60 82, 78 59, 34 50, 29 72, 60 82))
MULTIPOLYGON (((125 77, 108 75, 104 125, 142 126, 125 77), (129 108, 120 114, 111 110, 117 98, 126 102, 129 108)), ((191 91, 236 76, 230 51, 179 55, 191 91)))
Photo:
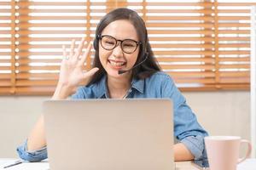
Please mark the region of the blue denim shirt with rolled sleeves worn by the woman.
MULTIPOLYGON (((106 99, 108 88, 106 77, 87 87, 81 87, 72 99, 106 99)), ((191 111, 186 99, 175 86, 172 78, 164 72, 156 72, 143 80, 134 79, 126 98, 170 98, 174 105, 174 135, 181 143, 186 145, 195 156, 195 160, 207 156, 204 137, 207 132, 197 122, 195 114, 191 111)), ((41 150, 28 152, 26 142, 17 148, 20 158, 26 161, 41 161, 47 158, 46 147, 41 150)))

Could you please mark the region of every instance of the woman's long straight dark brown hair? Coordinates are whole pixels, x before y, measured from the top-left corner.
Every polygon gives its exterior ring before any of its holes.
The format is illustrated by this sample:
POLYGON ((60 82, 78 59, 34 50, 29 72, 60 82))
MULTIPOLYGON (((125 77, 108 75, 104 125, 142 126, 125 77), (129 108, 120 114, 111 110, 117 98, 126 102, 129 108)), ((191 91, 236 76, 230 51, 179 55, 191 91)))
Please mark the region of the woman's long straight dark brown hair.
POLYGON ((137 12, 129 8, 116 8, 106 14, 96 28, 96 38, 93 42, 93 47, 96 50, 93 67, 98 67, 99 71, 97 71, 91 78, 89 84, 98 82, 105 74, 107 74, 99 58, 99 39, 97 36, 101 35, 104 28, 115 20, 129 20, 137 31, 139 41, 142 42, 135 65, 142 62, 148 53, 148 59, 146 59, 142 65, 139 65, 132 70, 131 78, 143 79, 150 77, 156 71, 160 71, 160 66, 154 59, 153 51, 148 42, 148 32, 143 19, 137 14, 137 12))

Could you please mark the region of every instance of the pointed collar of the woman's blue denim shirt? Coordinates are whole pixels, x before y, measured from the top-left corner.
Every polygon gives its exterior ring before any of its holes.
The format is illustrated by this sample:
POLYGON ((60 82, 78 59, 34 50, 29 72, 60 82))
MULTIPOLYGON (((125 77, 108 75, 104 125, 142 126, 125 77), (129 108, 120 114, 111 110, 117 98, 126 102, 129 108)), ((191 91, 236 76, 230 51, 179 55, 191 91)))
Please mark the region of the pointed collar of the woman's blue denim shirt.
MULTIPOLYGON (((137 89, 141 94, 144 93, 144 79, 132 79, 131 88, 137 89)), ((108 98, 108 86, 107 86, 107 76, 104 75, 102 79, 98 82, 98 97, 108 98)))

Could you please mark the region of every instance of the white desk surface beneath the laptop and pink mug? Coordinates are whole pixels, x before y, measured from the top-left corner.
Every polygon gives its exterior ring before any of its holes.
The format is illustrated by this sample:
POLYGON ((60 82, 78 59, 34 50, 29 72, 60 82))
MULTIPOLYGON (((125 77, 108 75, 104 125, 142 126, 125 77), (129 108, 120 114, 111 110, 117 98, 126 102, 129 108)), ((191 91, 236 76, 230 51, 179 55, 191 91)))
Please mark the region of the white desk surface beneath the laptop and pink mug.
MULTIPOLYGON (((47 161, 42 162, 24 162, 14 167, 3 168, 17 161, 17 159, 0 158, 0 170, 48 170, 49 163, 47 161)), ((175 162, 176 170, 198 170, 193 166, 191 161, 177 161, 175 162)), ((256 159, 248 159, 237 166, 237 170, 256 170, 256 159)))

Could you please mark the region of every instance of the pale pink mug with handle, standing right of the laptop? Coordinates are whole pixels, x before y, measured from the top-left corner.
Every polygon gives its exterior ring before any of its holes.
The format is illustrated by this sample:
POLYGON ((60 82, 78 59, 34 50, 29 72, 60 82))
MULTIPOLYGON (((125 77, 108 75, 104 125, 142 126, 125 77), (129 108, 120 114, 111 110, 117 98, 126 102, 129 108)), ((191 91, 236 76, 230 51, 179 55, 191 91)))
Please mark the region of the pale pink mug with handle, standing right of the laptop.
POLYGON ((245 161, 252 151, 252 144, 239 136, 207 136, 205 144, 211 170, 236 170, 236 165, 245 161), (241 144, 247 144, 247 154, 238 160, 241 144))

